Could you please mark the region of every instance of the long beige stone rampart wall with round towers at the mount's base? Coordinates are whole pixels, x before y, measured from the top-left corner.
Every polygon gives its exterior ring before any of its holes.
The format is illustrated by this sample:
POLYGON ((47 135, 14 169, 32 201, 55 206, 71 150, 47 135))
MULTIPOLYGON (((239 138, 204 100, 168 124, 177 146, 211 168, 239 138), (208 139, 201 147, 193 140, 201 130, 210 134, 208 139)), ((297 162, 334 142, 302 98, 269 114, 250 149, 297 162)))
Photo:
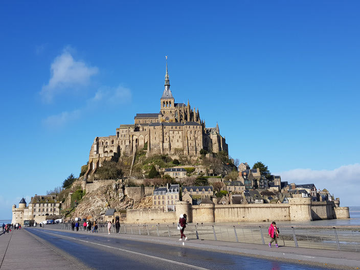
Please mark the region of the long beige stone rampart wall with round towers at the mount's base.
POLYGON ((213 205, 192 206, 178 201, 175 212, 158 209, 128 210, 126 223, 176 222, 180 214, 188 215, 188 222, 238 221, 310 221, 349 218, 348 207, 334 207, 332 202, 311 202, 311 198, 289 198, 288 204, 213 205))

